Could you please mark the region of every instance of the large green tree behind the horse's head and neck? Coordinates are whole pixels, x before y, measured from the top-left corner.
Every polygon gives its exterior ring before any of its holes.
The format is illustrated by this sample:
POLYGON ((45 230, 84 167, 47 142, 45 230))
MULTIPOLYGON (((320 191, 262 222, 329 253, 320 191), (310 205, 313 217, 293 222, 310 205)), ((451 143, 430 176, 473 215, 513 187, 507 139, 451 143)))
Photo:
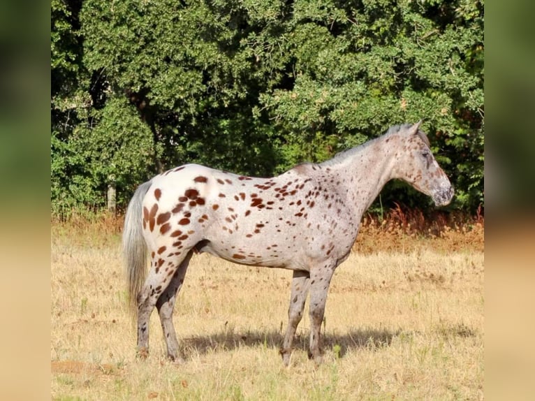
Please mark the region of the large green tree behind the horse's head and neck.
MULTIPOLYGON (((483 2, 296 2, 286 38, 295 84, 261 101, 288 132, 290 164, 423 119, 452 207, 483 203, 483 2)), ((383 194, 425 205, 400 183, 383 194)))

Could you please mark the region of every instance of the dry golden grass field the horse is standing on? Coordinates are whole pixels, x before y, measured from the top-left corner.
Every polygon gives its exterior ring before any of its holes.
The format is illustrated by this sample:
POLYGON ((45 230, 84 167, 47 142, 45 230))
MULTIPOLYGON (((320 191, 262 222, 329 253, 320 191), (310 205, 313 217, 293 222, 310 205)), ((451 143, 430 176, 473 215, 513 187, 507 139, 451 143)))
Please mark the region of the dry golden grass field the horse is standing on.
MULTIPOLYGON (((185 363, 135 358, 120 221, 52 224, 53 400, 482 400, 483 226, 411 233, 368 224, 332 279, 324 362, 279 346, 291 272, 196 255, 175 307, 185 363)), ((397 227, 397 228, 396 228, 397 227)))

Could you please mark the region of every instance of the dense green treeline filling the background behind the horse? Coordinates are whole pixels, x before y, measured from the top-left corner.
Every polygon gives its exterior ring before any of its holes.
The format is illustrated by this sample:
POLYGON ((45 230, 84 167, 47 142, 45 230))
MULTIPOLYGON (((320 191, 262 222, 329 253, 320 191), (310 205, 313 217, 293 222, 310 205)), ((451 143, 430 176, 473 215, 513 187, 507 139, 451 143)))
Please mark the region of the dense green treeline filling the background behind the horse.
MULTIPOLYGON (((52 212, 182 163, 249 175, 423 119, 483 204, 483 0, 52 0, 52 212)), ((382 206, 430 208, 391 182, 382 206)), ((374 205, 379 207, 379 203, 374 205)))

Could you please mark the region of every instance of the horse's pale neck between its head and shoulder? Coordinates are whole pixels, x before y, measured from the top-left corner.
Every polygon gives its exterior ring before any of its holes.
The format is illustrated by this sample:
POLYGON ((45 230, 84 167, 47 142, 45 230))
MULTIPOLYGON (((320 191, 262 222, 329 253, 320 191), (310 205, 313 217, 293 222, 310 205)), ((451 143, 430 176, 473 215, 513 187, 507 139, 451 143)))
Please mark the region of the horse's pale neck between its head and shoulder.
MULTIPOLYGON (((342 177, 348 201, 362 215, 390 181, 393 173, 393 147, 380 137, 364 146, 356 147, 330 165, 331 170, 342 177)), ((334 161, 334 160, 333 160, 334 161)))

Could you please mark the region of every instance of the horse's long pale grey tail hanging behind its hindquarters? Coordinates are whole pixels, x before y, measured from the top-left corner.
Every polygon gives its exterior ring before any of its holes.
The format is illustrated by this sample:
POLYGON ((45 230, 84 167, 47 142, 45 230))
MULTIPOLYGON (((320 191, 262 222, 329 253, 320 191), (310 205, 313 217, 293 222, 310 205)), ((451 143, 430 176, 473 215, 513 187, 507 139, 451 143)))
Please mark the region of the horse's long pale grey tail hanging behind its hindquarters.
POLYGON ((151 184, 151 181, 147 181, 135 190, 124 216, 123 256, 128 283, 129 309, 133 319, 138 314, 137 296, 147 276, 147 245, 142 231, 142 202, 151 184))

